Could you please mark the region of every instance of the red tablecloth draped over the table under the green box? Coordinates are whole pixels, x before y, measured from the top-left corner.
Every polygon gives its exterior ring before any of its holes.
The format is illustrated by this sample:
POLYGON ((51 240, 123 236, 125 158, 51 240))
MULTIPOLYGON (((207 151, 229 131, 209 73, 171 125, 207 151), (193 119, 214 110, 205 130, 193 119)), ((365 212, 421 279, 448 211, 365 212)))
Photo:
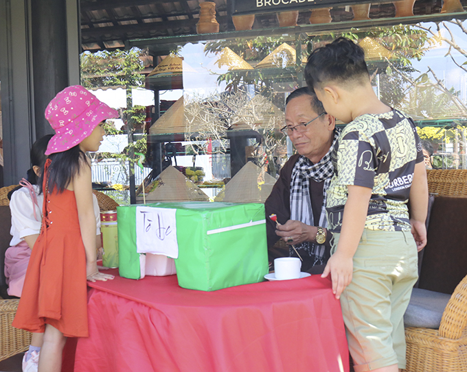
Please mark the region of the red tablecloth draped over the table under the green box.
POLYGON ((90 286, 75 372, 349 370, 340 304, 318 275, 215 292, 176 275, 90 286))

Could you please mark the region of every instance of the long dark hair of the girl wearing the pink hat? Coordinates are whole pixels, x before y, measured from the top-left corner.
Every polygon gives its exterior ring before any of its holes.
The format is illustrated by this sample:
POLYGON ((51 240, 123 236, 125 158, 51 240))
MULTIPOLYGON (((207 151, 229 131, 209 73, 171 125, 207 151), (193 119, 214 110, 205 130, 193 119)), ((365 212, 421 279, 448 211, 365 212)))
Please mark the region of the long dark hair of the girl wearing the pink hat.
MULTIPOLYGON (((73 177, 80 173, 80 164, 88 164, 86 154, 80 149, 80 145, 71 147, 71 149, 58 153, 51 153, 49 159, 52 163, 49 166, 47 189, 49 192, 56 190, 62 193, 70 184, 73 177)), ((41 192, 43 174, 41 173, 41 192)))

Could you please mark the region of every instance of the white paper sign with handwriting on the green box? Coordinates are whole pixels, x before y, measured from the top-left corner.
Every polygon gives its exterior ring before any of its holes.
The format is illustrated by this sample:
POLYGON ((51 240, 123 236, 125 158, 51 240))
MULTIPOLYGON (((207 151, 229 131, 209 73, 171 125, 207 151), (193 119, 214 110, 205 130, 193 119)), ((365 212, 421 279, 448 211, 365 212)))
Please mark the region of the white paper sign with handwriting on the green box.
POLYGON ((176 209, 136 207, 136 251, 179 257, 176 209))

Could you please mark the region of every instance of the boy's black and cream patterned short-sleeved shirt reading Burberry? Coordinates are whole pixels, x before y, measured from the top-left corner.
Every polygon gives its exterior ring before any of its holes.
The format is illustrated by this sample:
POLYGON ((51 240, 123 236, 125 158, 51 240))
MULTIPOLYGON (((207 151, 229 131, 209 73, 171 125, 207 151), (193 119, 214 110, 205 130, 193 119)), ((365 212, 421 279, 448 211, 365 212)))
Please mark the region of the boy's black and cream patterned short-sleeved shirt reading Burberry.
POLYGON ((398 110, 363 114, 339 136, 326 210, 332 232, 340 232, 348 186, 372 189, 365 228, 410 231, 407 201, 415 163, 423 161, 413 121, 398 110))

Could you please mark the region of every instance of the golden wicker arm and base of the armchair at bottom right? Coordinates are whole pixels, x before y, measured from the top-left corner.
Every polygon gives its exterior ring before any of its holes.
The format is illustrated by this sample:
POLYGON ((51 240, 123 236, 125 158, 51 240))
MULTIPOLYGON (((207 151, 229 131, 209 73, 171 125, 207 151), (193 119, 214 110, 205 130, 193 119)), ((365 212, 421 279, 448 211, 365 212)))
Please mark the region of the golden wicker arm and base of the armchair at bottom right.
POLYGON ((454 290, 439 330, 407 327, 405 372, 467 371, 467 276, 454 290))

